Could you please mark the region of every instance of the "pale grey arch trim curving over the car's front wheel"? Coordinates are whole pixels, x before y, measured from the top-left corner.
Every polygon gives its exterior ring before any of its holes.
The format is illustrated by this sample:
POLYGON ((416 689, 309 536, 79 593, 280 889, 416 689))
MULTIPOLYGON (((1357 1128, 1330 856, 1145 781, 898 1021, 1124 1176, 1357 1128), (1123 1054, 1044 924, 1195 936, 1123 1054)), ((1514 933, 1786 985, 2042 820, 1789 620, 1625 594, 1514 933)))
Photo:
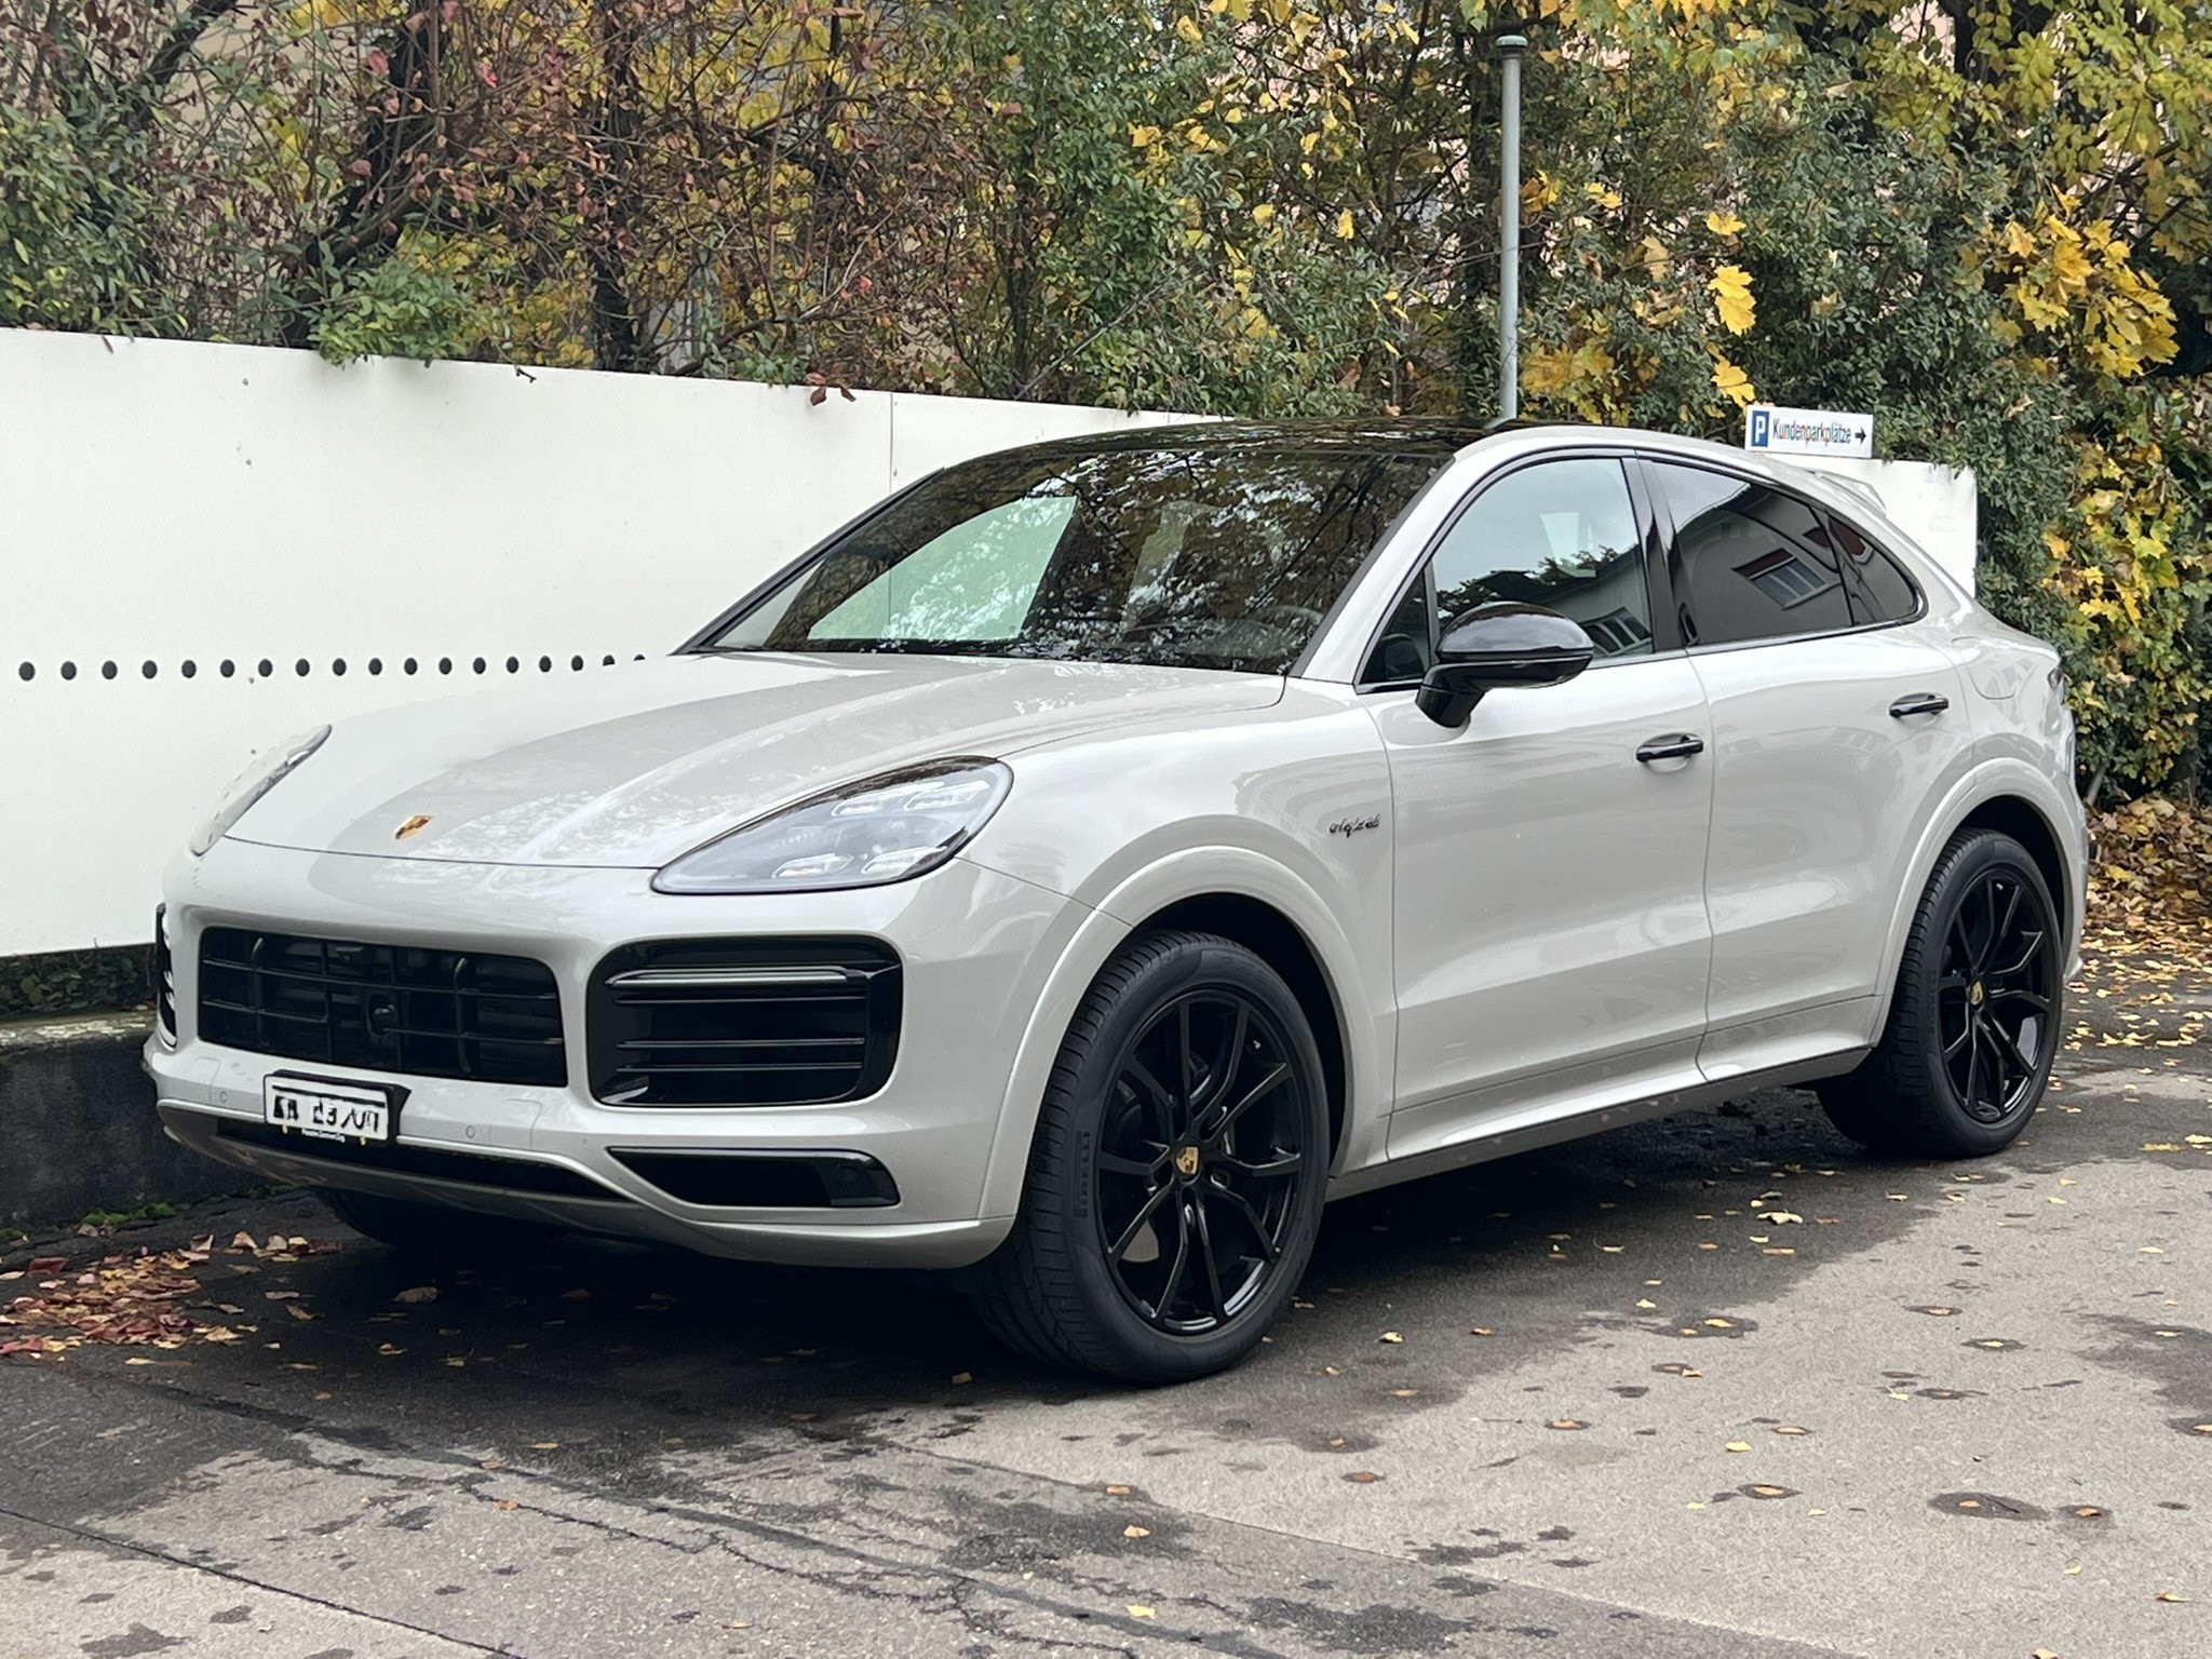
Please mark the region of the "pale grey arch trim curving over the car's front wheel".
POLYGON ((1283 865, 1243 847, 1194 847, 1126 878, 1077 927, 1031 1013, 1000 1104, 984 1170, 982 1214, 1020 1208, 1029 1150, 1051 1068, 1075 1011, 1128 940, 1159 927, 1221 933, 1276 969, 1314 1029, 1329 1091, 1332 1172, 1365 1159, 1380 1115, 1360 1104, 1387 1095, 1387 1013, 1371 969, 1321 896, 1283 865))

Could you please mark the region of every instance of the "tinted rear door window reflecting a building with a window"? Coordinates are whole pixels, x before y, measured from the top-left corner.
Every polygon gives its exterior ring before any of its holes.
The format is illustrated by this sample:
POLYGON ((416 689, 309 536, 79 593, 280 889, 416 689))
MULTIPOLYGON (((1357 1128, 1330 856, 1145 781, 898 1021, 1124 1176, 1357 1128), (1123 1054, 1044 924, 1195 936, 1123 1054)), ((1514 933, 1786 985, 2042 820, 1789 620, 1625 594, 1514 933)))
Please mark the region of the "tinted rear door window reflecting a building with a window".
POLYGON ((1854 626, 1820 515, 1781 491, 1657 462, 1674 509, 1681 637, 1692 646, 1785 639, 1854 626))

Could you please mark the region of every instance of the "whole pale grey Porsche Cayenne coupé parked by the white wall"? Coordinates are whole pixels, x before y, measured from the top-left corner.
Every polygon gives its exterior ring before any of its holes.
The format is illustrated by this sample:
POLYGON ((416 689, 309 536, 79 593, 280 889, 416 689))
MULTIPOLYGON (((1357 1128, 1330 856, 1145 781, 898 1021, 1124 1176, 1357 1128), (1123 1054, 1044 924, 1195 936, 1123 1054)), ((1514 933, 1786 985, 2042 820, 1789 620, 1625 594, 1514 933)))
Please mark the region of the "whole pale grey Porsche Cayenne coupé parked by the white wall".
POLYGON ((263 761, 166 876, 181 1141, 425 1250, 964 1270, 1137 1380, 1332 1194, 1767 1084, 2002 1148, 2081 918, 2055 653, 1628 431, 989 456, 672 657, 263 761))

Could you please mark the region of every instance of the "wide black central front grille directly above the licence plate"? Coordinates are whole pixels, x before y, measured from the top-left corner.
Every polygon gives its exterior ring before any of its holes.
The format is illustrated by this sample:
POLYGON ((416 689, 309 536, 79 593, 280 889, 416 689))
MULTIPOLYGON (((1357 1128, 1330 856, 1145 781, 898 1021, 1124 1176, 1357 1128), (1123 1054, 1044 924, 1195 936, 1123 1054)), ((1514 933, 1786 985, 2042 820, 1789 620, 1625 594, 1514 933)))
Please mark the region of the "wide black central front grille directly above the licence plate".
POLYGON ((484 1084, 566 1084, 544 962, 210 927, 199 1035, 325 1066, 484 1084))

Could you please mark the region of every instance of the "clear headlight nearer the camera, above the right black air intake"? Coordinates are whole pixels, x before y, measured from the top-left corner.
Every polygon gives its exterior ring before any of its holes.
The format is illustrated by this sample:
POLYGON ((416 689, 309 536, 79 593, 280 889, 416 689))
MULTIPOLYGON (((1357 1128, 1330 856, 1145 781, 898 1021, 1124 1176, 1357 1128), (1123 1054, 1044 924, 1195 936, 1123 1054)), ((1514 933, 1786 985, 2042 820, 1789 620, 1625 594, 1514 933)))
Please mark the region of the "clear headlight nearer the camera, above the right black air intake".
POLYGON ((960 852, 1013 787, 1000 761, 931 761, 801 801, 684 854, 661 894, 814 894, 880 887, 960 852))

